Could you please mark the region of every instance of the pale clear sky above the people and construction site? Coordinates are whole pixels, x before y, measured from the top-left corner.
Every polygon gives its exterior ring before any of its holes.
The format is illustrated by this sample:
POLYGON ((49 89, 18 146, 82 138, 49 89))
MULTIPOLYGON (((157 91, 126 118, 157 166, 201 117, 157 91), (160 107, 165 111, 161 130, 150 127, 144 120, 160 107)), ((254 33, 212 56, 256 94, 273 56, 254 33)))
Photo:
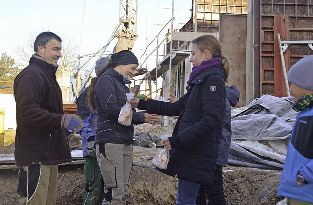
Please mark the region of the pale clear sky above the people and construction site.
MULTIPOLYGON (((138 58, 163 27, 157 21, 170 20, 171 7, 172 0, 138 0, 133 49, 138 58)), ((174 28, 181 28, 191 17, 191 0, 175 0, 174 7, 174 28)), ((19 62, 15 47, 27 46, 43 31, 56 33, 63 42, 72 39, 80 55, 94 53, 108 41, 118 20, 119 0, 0 0, 0 55, 5 52, 19 62)))

